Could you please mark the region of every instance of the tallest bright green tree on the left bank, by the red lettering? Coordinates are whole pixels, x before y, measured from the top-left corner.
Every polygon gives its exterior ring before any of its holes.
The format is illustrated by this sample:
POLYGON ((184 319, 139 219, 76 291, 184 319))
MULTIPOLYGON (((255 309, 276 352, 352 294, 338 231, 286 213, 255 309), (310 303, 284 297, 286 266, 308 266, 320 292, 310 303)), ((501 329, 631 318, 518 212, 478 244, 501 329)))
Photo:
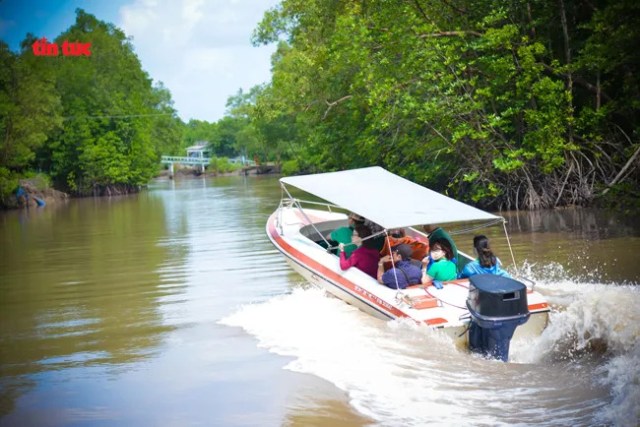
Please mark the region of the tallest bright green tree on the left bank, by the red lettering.
POLYGON ((112 24, 78 10, 76 23, 56 39, 65 41, 91 43, 91 56, 57 58, 65 125, 43 153, 53 178, 77 194, 146 184, 161 151, 179 143, 168 92, 152 86, 130 41, 112 24))

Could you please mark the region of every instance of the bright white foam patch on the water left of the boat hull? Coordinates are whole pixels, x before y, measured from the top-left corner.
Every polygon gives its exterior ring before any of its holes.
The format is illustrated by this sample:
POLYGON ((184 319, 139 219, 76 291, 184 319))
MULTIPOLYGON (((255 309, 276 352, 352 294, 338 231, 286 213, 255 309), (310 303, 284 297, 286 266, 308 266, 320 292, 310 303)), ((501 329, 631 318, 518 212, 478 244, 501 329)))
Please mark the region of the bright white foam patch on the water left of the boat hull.
POLYGON ((294 356, 287 369, 331 381, 375 419, 411 425, 421 413, 430 420, 450 417, 450 404, 439 403, 438 375, 429 373, 439 369, 439 355, 458 354, 429 328, 374 319, 316 289, 244 306, 221 323, 241 326, 260 346, 294 356))

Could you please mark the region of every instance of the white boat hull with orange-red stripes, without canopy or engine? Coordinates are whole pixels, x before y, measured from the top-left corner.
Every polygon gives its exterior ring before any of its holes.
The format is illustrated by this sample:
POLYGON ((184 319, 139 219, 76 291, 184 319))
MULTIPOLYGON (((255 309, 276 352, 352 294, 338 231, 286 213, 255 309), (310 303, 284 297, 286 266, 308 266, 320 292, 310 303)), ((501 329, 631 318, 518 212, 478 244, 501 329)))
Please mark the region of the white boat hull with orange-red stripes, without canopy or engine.
MULTIPOLYGON (((339 258, 316 240, 320 234, 346 224, 346 215, 281 206, 267 222, 267 235, 291 267, 310 283, 374 317, 410 318, 449 335, 460 348, 468 344, 468 280, 445 282, 442 289, 412 286, 390 289, 356 268, 342 270, 339 258)), ((529 320, 514 338, 538 336, 547 326, 549 307, 537 292, 528 291, 529 320)))

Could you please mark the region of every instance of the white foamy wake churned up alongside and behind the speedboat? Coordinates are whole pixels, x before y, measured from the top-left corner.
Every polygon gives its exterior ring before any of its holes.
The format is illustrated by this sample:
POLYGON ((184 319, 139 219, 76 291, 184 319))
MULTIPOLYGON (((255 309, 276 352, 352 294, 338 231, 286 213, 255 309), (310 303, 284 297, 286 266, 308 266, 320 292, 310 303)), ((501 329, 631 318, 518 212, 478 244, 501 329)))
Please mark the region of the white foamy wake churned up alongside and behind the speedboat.
POLYGON ((220 323, 292 357, 286 369, 344 390, 378 425, 637 425, 640 289, 567 279, 537 286, 553 305, 549 327, 513 340, 506 364, 315 288, 242 306, 220 323))

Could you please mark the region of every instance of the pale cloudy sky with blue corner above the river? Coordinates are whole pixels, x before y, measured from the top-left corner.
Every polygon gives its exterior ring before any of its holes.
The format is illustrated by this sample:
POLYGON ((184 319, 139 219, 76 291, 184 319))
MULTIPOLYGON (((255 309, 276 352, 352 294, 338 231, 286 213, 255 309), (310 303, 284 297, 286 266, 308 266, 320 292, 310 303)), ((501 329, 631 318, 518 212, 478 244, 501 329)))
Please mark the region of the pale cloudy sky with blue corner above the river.
POLYGON ((132 38, 142 68, 171 92, 180 118, 215 122, 239 89, 271 80, 275 45, 251 34, 279 0, 0 0, 0 39, 17 51, 27 33, 53 40, 75 10, 115 24, 132 38))

